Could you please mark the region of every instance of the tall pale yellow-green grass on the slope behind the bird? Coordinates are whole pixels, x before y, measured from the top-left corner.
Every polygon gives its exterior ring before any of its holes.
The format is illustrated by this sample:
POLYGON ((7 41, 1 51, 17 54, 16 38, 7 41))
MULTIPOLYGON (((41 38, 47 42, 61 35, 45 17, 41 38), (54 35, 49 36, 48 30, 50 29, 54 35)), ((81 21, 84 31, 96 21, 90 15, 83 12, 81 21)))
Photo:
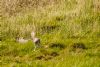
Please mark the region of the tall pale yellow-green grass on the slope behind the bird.
MULTIPOLYGON (((5 0, 6 1, 6 0, 5 0)), ((6 1, 8 6, 5 9, 16 9, 14 5, 17 5, 15 1, 6 1), (11 1, 11 2, 10 2, 11 1), (13 8, 10 7, 11 3, 13 8)), ((27 0, 28 1, 28 0, 27 0)), ((27 1, 18 1, 19 3, 24 3, 27 5, 27 1)), ((32 2, 34 2, 32 0, 32 2)), ((37 2, 37 1, 36 1, 37 2)), ((40 3, 45 3, 44 1, 39 1, 40 3)), ((37 3, 39 3, 37 2, 37 3)), ((37 29, 37 32, 47 32, 46 27, 59 27, 58 32, 63 32, 66 36, 88 36, 95 35, 95 32, 99 34, 99 13, 94 12, 95 9, 99 10, 99 6, 95 4, 95 1, 83 1, 81 4, 80 0, 72 1, 51 1, 58 4, 50 4, 46 6, 40 6, 36 9, 28 9, 24 13, 19 13, 18 15, 12 15, 9 18, 2 19, 2 34, 7 34, 7 36, 28 36, 33 28, 37 29), (68 4, 67 4, 68 3, 68 4), (62 5, 61 5, 62 4, 62 5), (68 5, 70 4, 70 9, 68 5), (51 6, 52 5, 52 6, 51 6), (71 5, 73 7, 71 7, 71 5), (94 7, 93 7, 94 6, 94 7), (59 8, 58 8, 59 7, 59 8), (30 11, 30 12, 29 12, 30 11), (98 14, 97 14, 98 13, 98 14), (42 29, 45 28, 45 29, 42 29)), ((30 5, 30 3, 28 3, 30 5)), ((47 4, 47 2, 46 2, 47 4)), ((21 4, 22 5, 22 4, 21 4)), ((25 7, 25 6, 23 6, 25 7)), ((22 8, 23 8, 22 7, 22 8)), ((28 7, 28 6, 27 6, 28 7)), ((17 7, 19 9, 19 7, 17 7)), ((17 11, 17 9, 15 11, 17 11)), ((7 10, 9 11, 9 10, 7 10)), ((9 13, 9 12, 5 13, 9 13)), ((22 10, 23 11, 23 10, 22 10)), ((11 11, 10 11, 11 12, 11 11)), ((14 13, 14 12, 12 12, 14 13)), ((18 12, 16 12, 18 13, 18 12)), ((16 14, 14 13, 14 14, 16 14)), ((10 14, 10 13, 9 13, 10 14)), ((10 14, 11 15, 11 14, 10 14)), ((48 29, 48 28, 47 28, 48 29)), ((49 31, 49 30, 48 30, 49 31)), ((57 32, 56 32, 57 33, 57 32)), ((62 35, 63 35, 62 34, 62 35)), ((29 36, 28 36, 29 37, 29 36)))

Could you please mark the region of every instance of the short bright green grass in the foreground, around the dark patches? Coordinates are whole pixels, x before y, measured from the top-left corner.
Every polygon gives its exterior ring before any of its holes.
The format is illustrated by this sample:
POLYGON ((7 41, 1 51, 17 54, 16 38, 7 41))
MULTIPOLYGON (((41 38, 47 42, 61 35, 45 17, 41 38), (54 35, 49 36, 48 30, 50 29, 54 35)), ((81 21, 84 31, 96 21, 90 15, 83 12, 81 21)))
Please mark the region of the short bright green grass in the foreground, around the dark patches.
MULTIPOLYGON (((59 41, 60 42, 60 41, 59 41)), ((67 45, 64 49, 47 48, 34 50, 31 42, 19 44, 16 42, 1 42, 0 45, 0 63, 1 66, 26 66, 26 67, 99 67, 100 64, 100 40, 81 39, 87 49, 72 51, 70 45, 79 42, 77 39, 67 39, 64 43, 67 45), (57 52, 59 55, 49 60, 39 60, 36 57, 57 52)), ((57 42, 55 42, 57 43, 57 42)), ((45 56, 45 58, 48 58, 45 56)))

